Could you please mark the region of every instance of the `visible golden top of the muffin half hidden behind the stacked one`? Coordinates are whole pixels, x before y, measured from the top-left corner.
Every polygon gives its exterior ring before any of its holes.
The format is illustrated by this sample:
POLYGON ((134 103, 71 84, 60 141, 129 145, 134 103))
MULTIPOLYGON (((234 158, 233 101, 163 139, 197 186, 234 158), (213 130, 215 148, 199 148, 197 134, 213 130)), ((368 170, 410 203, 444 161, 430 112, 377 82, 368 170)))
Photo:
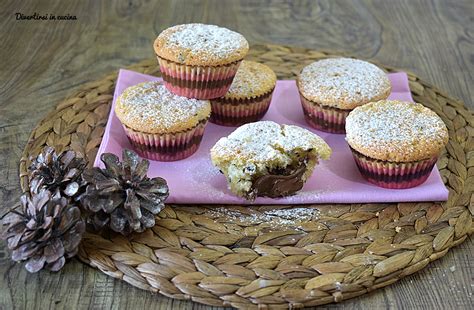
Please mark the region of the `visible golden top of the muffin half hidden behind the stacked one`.
POLYGON ((276 74, 270 67, 244 60, 225 94, 226 99, 245 99, 265 95, 275 88, 276 74))

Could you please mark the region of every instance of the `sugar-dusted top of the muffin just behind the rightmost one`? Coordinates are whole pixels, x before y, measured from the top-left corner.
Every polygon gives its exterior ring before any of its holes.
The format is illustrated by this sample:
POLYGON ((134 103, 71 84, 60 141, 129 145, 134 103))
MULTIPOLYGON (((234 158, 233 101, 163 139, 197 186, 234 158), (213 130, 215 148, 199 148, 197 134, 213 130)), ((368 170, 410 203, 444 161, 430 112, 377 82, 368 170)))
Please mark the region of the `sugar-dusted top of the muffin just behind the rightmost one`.
POLYGON ((298 77, 298 89, 315 103, 352 110, 387 99, 391 85, 385 72, 369 62, 329 58, 304 67, 298 77))

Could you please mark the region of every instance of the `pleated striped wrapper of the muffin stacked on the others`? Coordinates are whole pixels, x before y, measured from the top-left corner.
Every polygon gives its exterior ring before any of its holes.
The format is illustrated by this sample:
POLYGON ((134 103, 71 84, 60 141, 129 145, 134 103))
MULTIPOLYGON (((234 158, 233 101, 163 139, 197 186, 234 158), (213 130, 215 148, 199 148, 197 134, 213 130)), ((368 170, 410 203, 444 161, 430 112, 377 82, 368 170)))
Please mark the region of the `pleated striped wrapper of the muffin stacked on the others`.
POLYGON ((223 66, 187 66, 157 56, 165 87, 172 93, 196 99, 224 96, 241 61, 223 66))

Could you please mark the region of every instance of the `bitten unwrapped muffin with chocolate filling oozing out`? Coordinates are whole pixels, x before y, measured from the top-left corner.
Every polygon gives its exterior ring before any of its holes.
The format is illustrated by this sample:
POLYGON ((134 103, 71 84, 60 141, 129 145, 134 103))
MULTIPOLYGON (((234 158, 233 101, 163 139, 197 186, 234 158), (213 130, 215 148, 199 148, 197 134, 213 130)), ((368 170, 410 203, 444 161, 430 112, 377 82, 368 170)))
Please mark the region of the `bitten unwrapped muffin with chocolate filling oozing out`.
POLYGON ((271 121, 250 123, 221 138, 211 149, 211 160, 237 196, 283 197, 299 191, 319 159, 331 149, 319 136, 271 121))

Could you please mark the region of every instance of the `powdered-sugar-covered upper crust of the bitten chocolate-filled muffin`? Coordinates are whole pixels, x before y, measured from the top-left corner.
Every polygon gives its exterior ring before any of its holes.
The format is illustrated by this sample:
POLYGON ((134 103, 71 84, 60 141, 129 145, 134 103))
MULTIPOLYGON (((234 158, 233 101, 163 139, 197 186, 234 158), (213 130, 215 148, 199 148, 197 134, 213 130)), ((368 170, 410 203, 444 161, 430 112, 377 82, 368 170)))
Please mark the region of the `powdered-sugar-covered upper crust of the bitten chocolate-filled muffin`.
POLYGON ((250 123, 221 138, 211 149, 213 156, 242 157, 264 163, 282 156, 282 151, 316 149, 323 159, 331 149, 322 138, 304 128, 271 121, 250 123))

